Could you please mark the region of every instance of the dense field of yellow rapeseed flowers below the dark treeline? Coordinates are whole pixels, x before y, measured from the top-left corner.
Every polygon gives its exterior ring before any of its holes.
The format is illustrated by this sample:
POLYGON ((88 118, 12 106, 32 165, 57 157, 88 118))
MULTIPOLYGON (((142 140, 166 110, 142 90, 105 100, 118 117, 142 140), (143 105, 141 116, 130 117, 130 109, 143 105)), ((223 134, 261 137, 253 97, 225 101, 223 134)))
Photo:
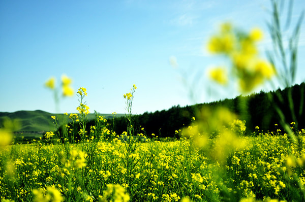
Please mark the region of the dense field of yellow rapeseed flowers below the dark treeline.
POLYGON ((241 138, 245 147, 225 162, 186 138, 137 143, 129 156, 118 139, 85 143, 85 151, 81 144, 11 145, 0 152, 0 195, 2 201, 301 201, 305 148, 278 133, 241 138))

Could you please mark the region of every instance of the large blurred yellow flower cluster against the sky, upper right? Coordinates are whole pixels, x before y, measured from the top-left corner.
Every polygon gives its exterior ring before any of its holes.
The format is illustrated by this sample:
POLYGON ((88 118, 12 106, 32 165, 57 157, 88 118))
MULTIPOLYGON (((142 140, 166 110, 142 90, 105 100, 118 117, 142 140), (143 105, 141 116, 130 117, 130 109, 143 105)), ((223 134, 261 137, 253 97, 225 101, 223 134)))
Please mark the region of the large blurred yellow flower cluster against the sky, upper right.
MULTIPOLYGON (((256 42, 262 37, 263 33, 258 28, 253 28, 250 33, 244 33, 233 29, 231 24, 224 23, 220 32, 212 36, 208 42, 209 52, 225 55, 230 59, 232 74, 237 78, 242 92, 251 92, 276 74, 273 65, 259 57, 256 42)), ((228 73, 224 68, 210 69, 209 76, 222 85, 228 82, 228 73)))

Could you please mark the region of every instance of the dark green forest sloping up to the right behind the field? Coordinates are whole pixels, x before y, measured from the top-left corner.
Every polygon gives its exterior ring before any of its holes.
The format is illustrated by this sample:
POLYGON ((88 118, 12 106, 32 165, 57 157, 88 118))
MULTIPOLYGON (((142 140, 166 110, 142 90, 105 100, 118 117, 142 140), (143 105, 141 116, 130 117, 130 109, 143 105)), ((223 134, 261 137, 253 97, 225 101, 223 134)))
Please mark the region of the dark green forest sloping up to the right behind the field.
MULTIPOLYGON (((263 131, 276 129, 275 124, 281 128, 281 121, 295 122, 298 129, 305 128, 304 106, 305 83, 296 84, 276 91, 237 96, 234 99, 223 99, 217 102, 197 104, 193 106, 173 106, 168 110, 145 112, 135 115, 134 121, 137 128, 144 127, 146 135, 150 137, 155 133, 160 138, 174 137, 175 130, 181 129, 191 123, 191 118, 196 117, 196 110, 204 106, 211 108, 226 107, 238 115, 239 119, 246 120, 247 132, 251 133, 256 126, 263 131)), ((127 128, 125 117, 114 119, 113 130, 117 134, 127 128)))

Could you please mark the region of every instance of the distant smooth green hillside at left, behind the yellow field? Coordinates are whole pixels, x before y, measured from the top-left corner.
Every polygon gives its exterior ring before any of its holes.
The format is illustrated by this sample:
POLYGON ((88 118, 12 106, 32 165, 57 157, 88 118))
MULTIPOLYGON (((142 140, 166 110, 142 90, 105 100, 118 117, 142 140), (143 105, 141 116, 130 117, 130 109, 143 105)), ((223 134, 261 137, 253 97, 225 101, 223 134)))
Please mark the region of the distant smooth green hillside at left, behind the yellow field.
MULTIPOLYGON (((53 119, 55 115, 58 118, 58 124, 69 121, 69 118, 64 114, 51 114, 45 111, 17 111, 17 112, 0 112, 0 127, 3 126, 3 121, 6 118, 18 120, 20 127, 16 129, 16 136, 40 136, 44 131, 54 131, 53 119)), ((106 119, 113 117, 112 114, 100 114, 106 119)), ((115 116, 123 116, 124 114, 116 114, 115 116)), ((88 114, 88 119, 95 118, 95 114, 88 114)))

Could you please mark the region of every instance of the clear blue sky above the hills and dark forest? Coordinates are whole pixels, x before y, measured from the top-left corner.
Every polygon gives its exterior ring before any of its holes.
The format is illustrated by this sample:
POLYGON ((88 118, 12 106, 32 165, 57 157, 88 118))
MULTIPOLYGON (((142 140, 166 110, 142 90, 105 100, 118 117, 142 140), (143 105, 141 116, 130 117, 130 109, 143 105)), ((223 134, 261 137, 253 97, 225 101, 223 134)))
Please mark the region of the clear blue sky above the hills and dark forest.
MULTIPOLYGON (((295 1, 293 22, 305 8, 302 2, 295 1)), ((124 113, 123 94, 133 84, 135 114, 234 97, 238 92, 217 87, 214 95, 207 93, 214 84, 206 68, 219 58, 207 54, 205 44, 217 25, 230 21, 246 31, 261 27, 260 48, 270 48, 269 8, 263 0, 1 1, 0 111, 56 113, 43 84, 54 76, 58 85, 63 74, 73 79, 75 92, 87 88, 91 112, 124 113)), ((302 24, 296 83, 305 79, 302 24)), ((59 112, 76 112, 77 105, 76 95, 60 99, 59 112)))

